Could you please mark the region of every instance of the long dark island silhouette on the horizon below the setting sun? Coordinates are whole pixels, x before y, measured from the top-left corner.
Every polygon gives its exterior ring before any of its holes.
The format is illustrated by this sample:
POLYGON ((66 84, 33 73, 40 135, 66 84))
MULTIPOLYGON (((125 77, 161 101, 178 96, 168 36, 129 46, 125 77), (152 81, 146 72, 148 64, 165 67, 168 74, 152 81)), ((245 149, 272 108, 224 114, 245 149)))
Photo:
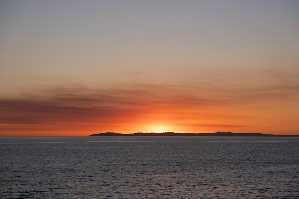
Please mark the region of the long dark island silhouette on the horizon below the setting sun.
POLYGON ((215 133, 174 133, 174 132, 164 132, 164 133, 130 133, 130 134, 122 134, 122 133, 114 133, 114 132, 106 132, 106 133, 97 133, 89 136, 243 136, 243 137, 299 137, 299 135, 273 135, 273 134, 264 134, 264 133, 232 133, 232 132, 222 132, 217 131, 215 133))

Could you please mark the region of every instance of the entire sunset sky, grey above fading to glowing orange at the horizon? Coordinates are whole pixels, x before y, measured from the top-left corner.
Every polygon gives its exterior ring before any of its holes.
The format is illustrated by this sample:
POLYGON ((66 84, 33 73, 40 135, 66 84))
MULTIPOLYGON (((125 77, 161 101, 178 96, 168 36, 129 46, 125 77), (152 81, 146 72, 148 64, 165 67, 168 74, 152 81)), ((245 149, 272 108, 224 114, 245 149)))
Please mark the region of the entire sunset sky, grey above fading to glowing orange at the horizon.
POLYGON ((299 134, 297 0, 1 0, 0 27, 0 136, 299 134))

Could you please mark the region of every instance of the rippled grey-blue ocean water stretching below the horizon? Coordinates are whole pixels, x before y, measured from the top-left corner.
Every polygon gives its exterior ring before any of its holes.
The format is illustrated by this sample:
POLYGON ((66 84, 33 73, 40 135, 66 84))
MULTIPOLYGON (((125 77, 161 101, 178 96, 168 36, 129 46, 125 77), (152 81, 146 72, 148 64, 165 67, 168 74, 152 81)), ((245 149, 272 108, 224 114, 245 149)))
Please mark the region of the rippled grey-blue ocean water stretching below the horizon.
POLYGON ((0 198, 299 198, 299 138, 0 138, 0 198))

